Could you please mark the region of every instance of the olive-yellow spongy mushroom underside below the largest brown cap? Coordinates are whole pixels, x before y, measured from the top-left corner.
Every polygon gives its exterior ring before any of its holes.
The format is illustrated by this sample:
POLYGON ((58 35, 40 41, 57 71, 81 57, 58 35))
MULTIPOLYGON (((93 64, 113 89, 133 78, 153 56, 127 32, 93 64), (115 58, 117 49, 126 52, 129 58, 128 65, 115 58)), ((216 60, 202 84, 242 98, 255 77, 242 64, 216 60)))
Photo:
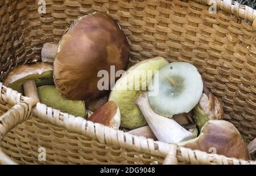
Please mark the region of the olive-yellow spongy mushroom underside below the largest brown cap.
POLYGON ((42 104, 59 109, 63 113, 86 117, 84 101, 67 100, 60 96, 54 85, 38 87, 39 100, 42 104))

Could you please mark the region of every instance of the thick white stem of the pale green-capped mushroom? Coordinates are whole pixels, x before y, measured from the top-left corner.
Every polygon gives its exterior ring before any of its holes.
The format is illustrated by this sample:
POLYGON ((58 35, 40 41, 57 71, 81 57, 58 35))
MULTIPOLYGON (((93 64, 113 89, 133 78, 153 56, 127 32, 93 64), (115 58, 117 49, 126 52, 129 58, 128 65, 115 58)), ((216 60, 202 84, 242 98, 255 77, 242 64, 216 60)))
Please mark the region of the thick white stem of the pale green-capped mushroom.
POLYGON ((156 114, 150 108, 146 91, 143 91, 138 96, 136 104, 141 109, 144 118, 159 141, 179 143, 180 141, 196 138, 194 134, 181 127, 174 119, 156 114))

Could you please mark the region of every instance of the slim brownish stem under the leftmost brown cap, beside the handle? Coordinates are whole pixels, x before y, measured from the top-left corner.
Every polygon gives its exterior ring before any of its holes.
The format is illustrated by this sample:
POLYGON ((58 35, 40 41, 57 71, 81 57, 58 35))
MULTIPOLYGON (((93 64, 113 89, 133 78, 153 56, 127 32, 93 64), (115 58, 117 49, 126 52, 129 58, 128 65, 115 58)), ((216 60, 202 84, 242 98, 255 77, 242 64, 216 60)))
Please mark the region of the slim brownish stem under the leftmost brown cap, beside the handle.
POLYGON ((38 89, 36 88, 35 80, 26 80, 23 83, 23 89, 24 94, 27 97, 30 97, 34 100, 35 104, 36 102, 40 102, 39 96, 38 96, 38 89))

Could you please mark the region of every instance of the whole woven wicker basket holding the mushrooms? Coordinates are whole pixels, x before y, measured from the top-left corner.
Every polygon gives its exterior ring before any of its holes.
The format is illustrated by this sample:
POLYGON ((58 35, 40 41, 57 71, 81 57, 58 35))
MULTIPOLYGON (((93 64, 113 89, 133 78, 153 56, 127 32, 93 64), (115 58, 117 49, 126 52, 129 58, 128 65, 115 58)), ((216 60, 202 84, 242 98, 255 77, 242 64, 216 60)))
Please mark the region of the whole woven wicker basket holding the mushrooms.
MULTIPOLYGON (((130 63, 162 56, 195 65, 223 103, 225 119, 246 142, 256 136, 256 11, 228 0, 0 0, 1 80, 40 61, 79 16, 108 12, 130 43, 130 63), (207 5, 209 4, 209 5, 207 5)), ((81 117, 31 104, 0 84, 2 164, 256 164, 125 134, 81 117), (40 160, 42 147, 46 160, 40 160)))

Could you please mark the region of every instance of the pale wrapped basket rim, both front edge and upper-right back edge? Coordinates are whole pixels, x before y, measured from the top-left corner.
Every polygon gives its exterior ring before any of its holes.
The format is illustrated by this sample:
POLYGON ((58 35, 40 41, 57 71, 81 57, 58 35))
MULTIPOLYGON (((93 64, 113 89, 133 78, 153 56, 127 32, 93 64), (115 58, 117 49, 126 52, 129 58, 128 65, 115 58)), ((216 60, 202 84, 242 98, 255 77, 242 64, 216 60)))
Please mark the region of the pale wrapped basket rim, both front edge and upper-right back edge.
MULTIPOLYGON (((166 0, 168 1, 168 0, 166 0)), ((177 0, 174 0, 177 1, 177 0)), ((189 0, 195 3, 199 3, 201 5, 211 6, 213 2, 217 5, 217 10, 222 10, 227 14, 233 14, 237 18, 242 18, 251 23, 251 27, 254 31, 256 31, 256 10, 251 7, 240 5, 240 3, 236 1, 229 0, 189 0)), ((10 106, 14 106, 19 104, 19 102, 25 100, 28 97, 22 96, 20 93, 15 92, 13 89, 2 86, 0 82, 0 104, 8 104, 10 106)), ((88 138, 92 138, 97 140, 100 143, 118 145, 118 147, 133 149, 136 152, 143 152, 146 154, 154 154, 154 156, 166 157, 168 153, 170 153, 170 148, 173 147, 174 144, 166 144, 160 141, 154 141, 151 139, 146 139, 139 136, 134 136, 130 134, 125 134, 121 130, 114 130, 112 128, 106 127, 104 125, 100 125, 97 123, 93 123, 90 121, 86 121, 82 117, 74 117, 73 115, 62 113, 57 109, 53 109, 44 104, 36 104, 32 109, 35 117, 42 119, 44 122, 51 123, 52 125, 65 128, 69 132, 75 132, 80 135, 84 135, 88 138), (47 112, 52 112, 52 115, 49 115, 47 112), (53 115, 55 112, 55 115, 53 115), (100 130, 102 128, 102 130, 100 130), (89 129, 89 130, 88 130, 89 129), (110 132, 110 134, 115 134, 115 139, 106 139, 105 134, 110 132), (128 139, 130 141, 128 141, 128 139)), ((1 150, 1 148, 0 148, 1 150)), ((208 154, 202 151, 193 151, 188 148, 177 146, 177 158, 181 158, 185 161, 184 153, 193 155, 194 157, 198 157, 197 159, 200 162, 201 156, 205 158, 210 158, 211 163, 214 164, 256 164, 256 161, 252 160, 238 160, 236 158, 228 158, 218 154, 208 154)), ((0 151, 1 152, 1 151, 0 151)), ((189 159, 190 160, 190 159, 189 159)), ((187 162, 189 162, 189 160, 187 162)), ((200 164, 208 164, 208 163, 200 163, 200 164)))

